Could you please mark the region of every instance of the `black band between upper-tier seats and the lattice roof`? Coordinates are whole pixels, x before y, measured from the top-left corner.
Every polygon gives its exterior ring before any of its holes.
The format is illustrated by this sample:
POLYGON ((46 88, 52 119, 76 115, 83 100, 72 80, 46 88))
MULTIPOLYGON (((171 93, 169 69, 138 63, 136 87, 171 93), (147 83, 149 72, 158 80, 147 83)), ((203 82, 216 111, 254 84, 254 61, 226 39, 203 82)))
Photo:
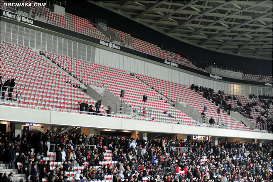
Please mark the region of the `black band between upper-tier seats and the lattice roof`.
POLYGON ((245 58, 192 46, 87 1, 66 1, 65 11, 89 20, 91 18, 105 19, 110 27, 129 33, 132 37, 159 47, 164 45, 184 58, 189 55, 189 59, 196 60, 198 67, 201 68, 204 68, 204 63, 201 63, 203 60, 219 66, 241 69, 248 74, 272 75, 272 60, 245 58))

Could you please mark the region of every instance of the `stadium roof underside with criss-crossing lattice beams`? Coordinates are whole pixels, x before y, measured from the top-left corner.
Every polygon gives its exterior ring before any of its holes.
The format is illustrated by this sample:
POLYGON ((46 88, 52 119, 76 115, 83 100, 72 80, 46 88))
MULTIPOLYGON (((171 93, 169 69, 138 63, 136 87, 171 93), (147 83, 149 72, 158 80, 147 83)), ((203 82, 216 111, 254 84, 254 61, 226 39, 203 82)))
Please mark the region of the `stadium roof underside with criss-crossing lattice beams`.
POLYGON ((89 1, 192 45, 272 60, 272 1, 89 1))

